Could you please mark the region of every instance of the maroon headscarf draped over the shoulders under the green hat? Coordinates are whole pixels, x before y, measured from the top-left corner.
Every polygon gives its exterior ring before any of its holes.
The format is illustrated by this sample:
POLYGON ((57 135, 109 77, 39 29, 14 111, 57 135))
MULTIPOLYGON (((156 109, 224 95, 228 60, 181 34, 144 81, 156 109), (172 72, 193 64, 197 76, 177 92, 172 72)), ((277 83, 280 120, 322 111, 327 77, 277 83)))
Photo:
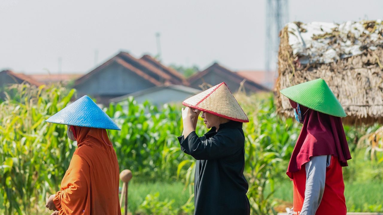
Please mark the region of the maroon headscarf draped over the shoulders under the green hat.
MULTIPOLYGON (((293 108, 297 106, 297 103, 291 100, 290 104, 293 108)), ((311 157, 320 155, 336 156, 341 166, 347 166, 351 155, 340 117, 314 111, 301 104, 300 109, 304 114, 303 127, 286 174, 292 179, 293 172, 299 171, 311 157)))

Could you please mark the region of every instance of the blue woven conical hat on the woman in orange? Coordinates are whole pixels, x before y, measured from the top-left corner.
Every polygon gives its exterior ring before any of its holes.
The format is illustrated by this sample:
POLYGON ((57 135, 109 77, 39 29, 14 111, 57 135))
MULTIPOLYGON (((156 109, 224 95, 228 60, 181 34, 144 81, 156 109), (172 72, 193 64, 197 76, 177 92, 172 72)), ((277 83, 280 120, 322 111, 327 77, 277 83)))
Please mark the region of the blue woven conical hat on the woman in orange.
POLYGON ((121 130, 116 123, 86 95, 49 117, 46 122, 98 129, 121 130))

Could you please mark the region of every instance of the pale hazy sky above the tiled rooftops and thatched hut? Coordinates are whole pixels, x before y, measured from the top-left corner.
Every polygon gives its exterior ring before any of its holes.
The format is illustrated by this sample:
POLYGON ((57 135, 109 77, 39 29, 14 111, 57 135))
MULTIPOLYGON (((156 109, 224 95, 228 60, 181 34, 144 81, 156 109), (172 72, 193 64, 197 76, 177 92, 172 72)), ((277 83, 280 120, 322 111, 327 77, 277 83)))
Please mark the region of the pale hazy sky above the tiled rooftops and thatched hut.
MULTIPOLYGON (((117 54, 162 62, 265 66, 266 0, 1 0, 0 71, 85 73, 117 54)), ((383 19, 382 0, 290 0, 289 21, 383 19)))

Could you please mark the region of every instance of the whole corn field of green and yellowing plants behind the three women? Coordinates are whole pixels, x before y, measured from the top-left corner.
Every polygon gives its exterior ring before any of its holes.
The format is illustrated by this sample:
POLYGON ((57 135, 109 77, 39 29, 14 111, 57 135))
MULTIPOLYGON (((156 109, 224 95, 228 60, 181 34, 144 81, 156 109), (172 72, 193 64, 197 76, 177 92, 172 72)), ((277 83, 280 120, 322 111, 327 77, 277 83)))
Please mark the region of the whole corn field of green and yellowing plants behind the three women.
MULTIPOLYGON (((67 106, 76 97, 75 90, 14 85, 7 92, 0 104, 0 214, 41 214, 46 198, 59 189, 77 147, 67 138, 65 125, 45 120, 67 106)), ((270 94, 236 98, 250 119, 243 129, 252 213, 275 214, 274 182, 286 178, 300 125, 276 115, 270 94)), ((121 128, 109 131, 120 170, 130 169, 136 182, 183 181, 193 197, 195 160, 182 153, 177 140, 182 133, 181 108, 157 108, 129 98, 104 111, 121 128)), ((199 135, 207 131, 201 120, 197 128, 199 135)), ((345 129, 349 142, 362 136, 355 128, 345 129)))

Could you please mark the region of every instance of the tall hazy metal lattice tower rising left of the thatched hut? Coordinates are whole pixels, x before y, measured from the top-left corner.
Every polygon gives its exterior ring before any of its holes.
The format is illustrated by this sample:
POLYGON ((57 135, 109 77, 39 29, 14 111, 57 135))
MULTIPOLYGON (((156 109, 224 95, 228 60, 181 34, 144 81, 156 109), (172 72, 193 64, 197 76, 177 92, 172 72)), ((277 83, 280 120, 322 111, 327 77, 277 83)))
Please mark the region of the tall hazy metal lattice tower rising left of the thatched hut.
POLYGON ((288 23, 288 0, 267 0, 265 70, 277 75, 279 32, 288 23))

